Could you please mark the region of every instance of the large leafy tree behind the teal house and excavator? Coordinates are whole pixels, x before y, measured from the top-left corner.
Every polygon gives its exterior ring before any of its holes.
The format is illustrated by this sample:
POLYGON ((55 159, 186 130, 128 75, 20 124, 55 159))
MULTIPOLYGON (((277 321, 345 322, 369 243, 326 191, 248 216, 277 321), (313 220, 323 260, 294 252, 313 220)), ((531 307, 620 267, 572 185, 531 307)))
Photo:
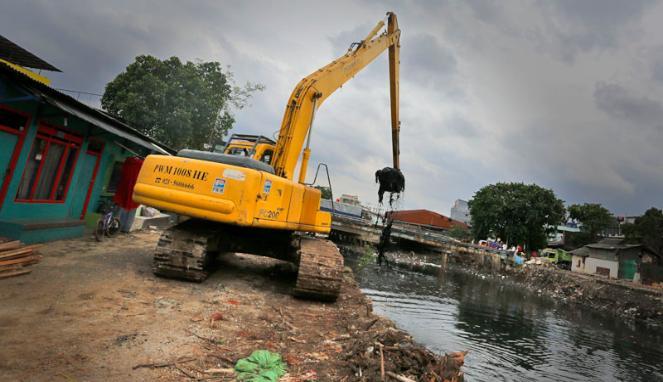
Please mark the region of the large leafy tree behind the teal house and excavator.
POLYGON ((262 85, 233 85, 218 62, 138 56, 106 85, 101 106, 142 133, 175 149, 219 141, 262 85))

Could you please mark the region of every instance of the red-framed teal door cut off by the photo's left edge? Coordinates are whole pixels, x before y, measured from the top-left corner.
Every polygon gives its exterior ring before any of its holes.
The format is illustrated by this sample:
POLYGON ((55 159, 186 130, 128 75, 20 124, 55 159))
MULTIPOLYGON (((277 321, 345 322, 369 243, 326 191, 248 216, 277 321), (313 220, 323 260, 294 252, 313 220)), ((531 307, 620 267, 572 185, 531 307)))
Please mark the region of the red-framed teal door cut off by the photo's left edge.
POLYGON ((0 106, 0 208, 23 147, 28 119, 23 113, 0 106))

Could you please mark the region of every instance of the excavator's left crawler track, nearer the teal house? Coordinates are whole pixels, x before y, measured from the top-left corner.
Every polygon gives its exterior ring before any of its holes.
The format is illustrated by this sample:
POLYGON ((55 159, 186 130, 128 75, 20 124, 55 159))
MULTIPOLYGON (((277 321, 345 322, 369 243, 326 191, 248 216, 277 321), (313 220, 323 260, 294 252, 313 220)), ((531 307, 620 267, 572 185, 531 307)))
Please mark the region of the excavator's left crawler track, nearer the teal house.
POLYGON ((196 282, 209 276, 208 249, 213 233, 194 228, 180 224, 161 234, 154 251, 155 275, 196 282))

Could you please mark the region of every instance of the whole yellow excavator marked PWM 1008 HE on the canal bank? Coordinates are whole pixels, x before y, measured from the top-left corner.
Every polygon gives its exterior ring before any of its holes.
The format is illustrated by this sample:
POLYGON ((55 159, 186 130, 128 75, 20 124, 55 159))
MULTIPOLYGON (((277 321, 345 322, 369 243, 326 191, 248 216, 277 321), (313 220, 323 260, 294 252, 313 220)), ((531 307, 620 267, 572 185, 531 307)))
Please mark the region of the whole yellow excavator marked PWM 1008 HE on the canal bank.
POLYGON ((298 265, 295 295, 335 300, 343 257, 331 241, 315 235, 329 233, 331 216, 320 210, 320 191, 305 183, 311 128, 324 100, 388 49, 393 166, 400 173, 399 37, 396 15, 387 13, 386 27, 380 21, 343 56, 301 80, 276 142, 236 136, 224 154, 184 149, 177 156, 149 155, 133 199, 191 218, 163 232, 154 273, 202 281, 218 253, 263 255, 298 265))

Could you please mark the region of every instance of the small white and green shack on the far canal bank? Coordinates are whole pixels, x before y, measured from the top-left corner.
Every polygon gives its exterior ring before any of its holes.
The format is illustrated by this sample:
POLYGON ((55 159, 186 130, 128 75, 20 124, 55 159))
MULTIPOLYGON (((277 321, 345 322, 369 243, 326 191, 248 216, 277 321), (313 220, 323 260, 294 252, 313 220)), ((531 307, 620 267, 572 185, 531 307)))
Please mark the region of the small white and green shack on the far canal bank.
POLYGON ((641 268, 659 263, 659 257, 641 244, 622 239, 603 239, 571 251, 571 271, 608 278, 640 281, 641 268))

